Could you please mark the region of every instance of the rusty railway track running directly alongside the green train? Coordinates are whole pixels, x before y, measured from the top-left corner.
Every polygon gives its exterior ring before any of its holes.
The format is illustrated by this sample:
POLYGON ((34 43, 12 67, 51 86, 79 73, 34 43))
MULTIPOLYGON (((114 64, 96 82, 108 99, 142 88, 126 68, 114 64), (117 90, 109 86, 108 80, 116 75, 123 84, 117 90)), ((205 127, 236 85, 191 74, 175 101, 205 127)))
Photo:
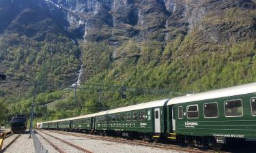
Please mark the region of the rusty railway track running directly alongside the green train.
MULTIPOLYGON (((63 131, 51 131, 51 132, 59 133, 62 135, 71 135, 74 137, 86 137, 89 139, 99 139, 99 140, 113 141, 113 142, 126 143, 126 144, 128 143, 128 144, 137 145, 137 146, 147 146, 147 147, 160 148, 165 150, 179 150, 179 151, 191 152, 191 153, 214 152, 212 150, 202 150, 199 148, 180 147, 173 144, 150 143, 146 141, 129 140, 129 139, 116 138, 116 137, 102 137, 98 135, 78 134, 78 133, 70 133, 70 132, 63 132, 63 131)), ((221 153, 229 153, 229 152, 221 152, 221 153)))

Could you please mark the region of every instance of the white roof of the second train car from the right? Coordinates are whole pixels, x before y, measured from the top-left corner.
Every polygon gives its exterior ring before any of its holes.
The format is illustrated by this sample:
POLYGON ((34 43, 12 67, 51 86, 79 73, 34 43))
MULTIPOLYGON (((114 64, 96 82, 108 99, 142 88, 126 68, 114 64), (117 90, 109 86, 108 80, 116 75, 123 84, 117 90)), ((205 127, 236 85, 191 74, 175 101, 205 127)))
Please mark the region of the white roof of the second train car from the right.
POLYGON ((119 112, 127 112, 127 111, 132 111, 132 110, 137 110, 137 109, 145 109, 145 108, 151 108, 151 107, 160 107, 160 106, 164 106, 168 100, 169 99, 163 99, 163 100, 158 100, 158 101, 151 101, 148 103, 140 103, 137 105, 130 105, 127 107, 110 109, 110 110, 107 110, 104 112, 99 112, 98 114, 96 114, 96 116, 101 116, 101 115, 106 115, 106 114, 114 114, 114 113, 119 113, 119 112))

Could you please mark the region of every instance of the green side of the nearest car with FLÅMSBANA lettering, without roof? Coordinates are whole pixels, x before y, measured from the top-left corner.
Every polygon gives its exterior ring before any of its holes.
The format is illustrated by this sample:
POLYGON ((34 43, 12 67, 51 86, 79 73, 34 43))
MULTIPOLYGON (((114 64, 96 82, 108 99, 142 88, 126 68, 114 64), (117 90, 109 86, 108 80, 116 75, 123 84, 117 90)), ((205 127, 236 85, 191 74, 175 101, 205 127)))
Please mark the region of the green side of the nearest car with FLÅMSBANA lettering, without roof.
MULTIPOLYGON (((220 139, 256 139, 256 98, 253 100, 253 97, 256 93, 177 104, 174 106, 175 133, 220 139)), ((169 130, 172 129, 169 127, 169 130)))

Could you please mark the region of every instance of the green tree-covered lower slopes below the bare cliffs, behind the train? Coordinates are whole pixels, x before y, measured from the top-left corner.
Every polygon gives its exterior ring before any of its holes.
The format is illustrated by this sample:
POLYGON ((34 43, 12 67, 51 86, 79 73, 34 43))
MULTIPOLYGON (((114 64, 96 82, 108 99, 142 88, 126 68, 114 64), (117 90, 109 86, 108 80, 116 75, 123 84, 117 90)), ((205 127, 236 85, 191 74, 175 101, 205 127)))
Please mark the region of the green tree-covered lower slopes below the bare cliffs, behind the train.
MULTIPOLYGON (((201 24, 213 31, 205 32, 195 27, 189 34, 177 32, 167 44, 156 41, 154 37, 142 43, 130 39, 117 48, 104 42, 82 44, 81 61, 85 72, 76 100, 73 90, 59 88, 67 86, 65 82, 72 78, 68 75, 77 69, 79 63, 76 58, 78 49, 65 37, 35 41, 15 34, 5 36, 0 41, 0 48, 5 53, 0 54, 0 63, 6 65, 8 75, 18 74, 13 76, 17 80, 29 77, 38 80, 37 93, 40 94, 36 97, 35 121, 68 118, 173 97, 171 93, 143 92, 143 87, 186 93, 255 82, 256 41, 250 34, 254 31, 246 31, 255 26, 255 14, 251 10, 215 13, 205 16, 201 24), (225 33, 218 31, 225 27, 225 33), (221 38, 210 41, 212 33, 220 34, 221 38), (63 80, 66 81, 63 83, 63 80), (120 90, 111 91, 111 87, 106 91, 91 90, 87 84, 115 84, 134 90, 128 90, 127 98, 123 99, 120 90), (53 101, 54 104, 46 108, 44 104, 53 101)), ((10 92, 1 89, 1 95, 10 92)), ((31 91, 29 93, 27 97, 31 97, 31 91)), ((14 99, 2 98, 1 101, 6 103, 14 99)), ((31 98, 23 98, 20 103, 12 105, 8 114, 28 115, 30 106, 31 98)))

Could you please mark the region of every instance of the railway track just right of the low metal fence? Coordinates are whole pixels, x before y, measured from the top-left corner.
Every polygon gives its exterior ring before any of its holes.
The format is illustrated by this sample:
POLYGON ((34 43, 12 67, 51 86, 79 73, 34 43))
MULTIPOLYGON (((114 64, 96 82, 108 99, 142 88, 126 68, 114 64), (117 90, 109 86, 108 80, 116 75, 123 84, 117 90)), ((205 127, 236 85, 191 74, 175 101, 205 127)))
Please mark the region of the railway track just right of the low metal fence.
MULTIPOLYGON (((38 135, 40 135, 43 139, 45 139, 51 146, 53 146, 53 148, 55 148, 58 152, 60 153, 66 153, 64 150, 62 150, 61 148, 59 148, 58 146, 56 146, 52 141, 49 141, 48 139, 46 139, 46 137, 44 137, 41 133, 44 133, 43 131, 36 131, 38 133, 38 135)), ((76 146, 74 143, 70 143, 68 141, 65 141, 63 139, 59 139, 58 137, 55 137, 53 135, 50 135, 48 133, 44 133, 44 135, 48 135, 50 137, 53 137, 54 139, 57 139, 63 143, 66 143, 68 144, 68 146, 72 146, 73 148, 76 148, 77 150, 81 150, 82 152, 86 152, 86 153, 94 153, 94 152, 91 152, 89 150, 86 150, 85 148, 81 148, 79 146, 76 146)))

